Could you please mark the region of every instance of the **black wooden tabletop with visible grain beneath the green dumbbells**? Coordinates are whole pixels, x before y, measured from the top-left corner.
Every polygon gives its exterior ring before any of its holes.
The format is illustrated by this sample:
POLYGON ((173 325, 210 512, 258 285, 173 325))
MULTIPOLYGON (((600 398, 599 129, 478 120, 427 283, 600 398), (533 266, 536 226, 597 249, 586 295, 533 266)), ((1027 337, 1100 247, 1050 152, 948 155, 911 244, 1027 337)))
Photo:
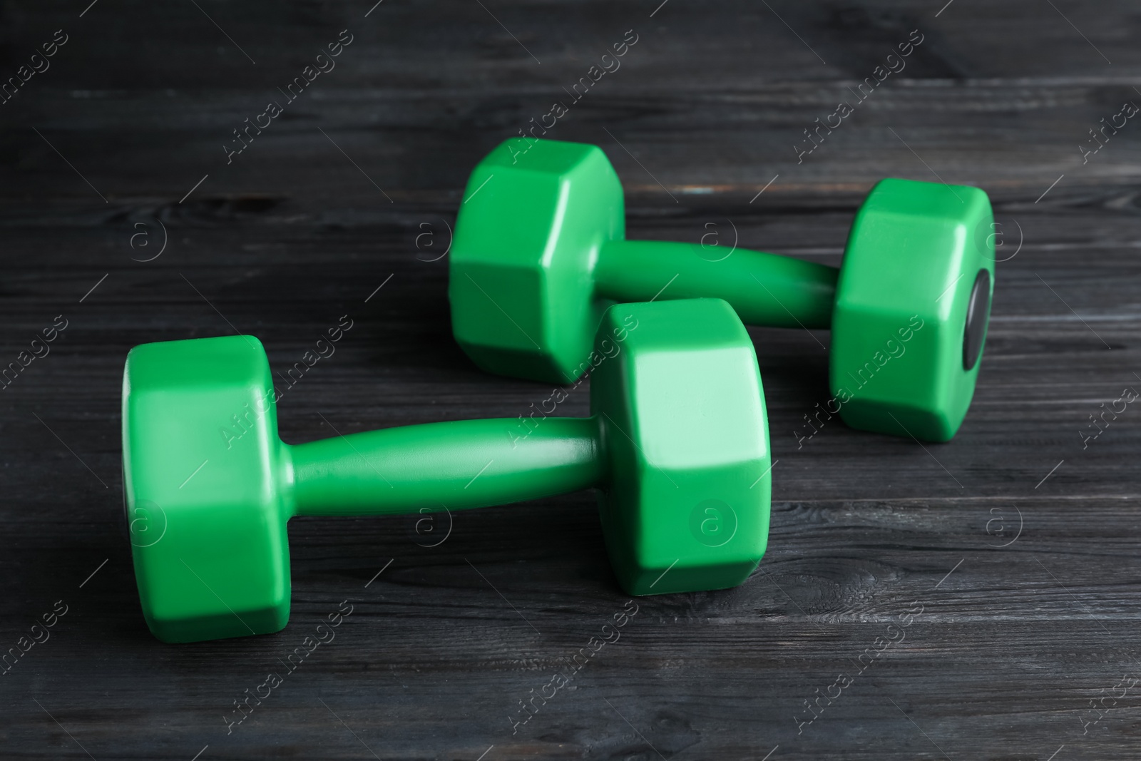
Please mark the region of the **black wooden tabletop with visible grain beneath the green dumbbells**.
POLYGON ((1141 127, 1091 133, 1141 103, 1134 3, 87 2, 0 11, 0 365, 56 329, 0 389, 0 646, 54 623, 0 677, 0 758, 1136 758, 1141 127), (241 331, 284 371, 348 315, 285 440, 527 412, 549 388, 453 343, 444 252, 471 167, 555 100, 548 137, 602 146, 632 237, 839 264, 876 179, 986 189, 1002 261, 957 437, 804 438, 828 334, 755 330, 777 463, 741 588, 628 606, 578 493, 297 519, 284 631, 156 641, 128 349, 241 331))

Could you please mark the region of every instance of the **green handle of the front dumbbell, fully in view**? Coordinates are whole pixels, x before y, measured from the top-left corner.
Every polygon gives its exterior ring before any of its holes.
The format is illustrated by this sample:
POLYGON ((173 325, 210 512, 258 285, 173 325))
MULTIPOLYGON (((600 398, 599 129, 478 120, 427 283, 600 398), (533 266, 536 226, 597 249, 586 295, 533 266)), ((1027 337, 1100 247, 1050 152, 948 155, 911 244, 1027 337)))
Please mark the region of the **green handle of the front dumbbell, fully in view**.
POLYGON ((598 486, 607 476, 594 418, 458 420, 284 445, 293 515, 462 510, 598 486))

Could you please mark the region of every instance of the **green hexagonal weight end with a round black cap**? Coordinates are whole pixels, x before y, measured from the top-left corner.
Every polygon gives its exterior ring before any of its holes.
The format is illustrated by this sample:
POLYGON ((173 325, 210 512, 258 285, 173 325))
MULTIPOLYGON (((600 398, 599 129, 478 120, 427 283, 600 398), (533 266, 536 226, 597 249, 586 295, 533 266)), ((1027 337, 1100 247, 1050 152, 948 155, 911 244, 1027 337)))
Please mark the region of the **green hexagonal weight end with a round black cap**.
POLYGON ((990 314, 993 220, 974 187, 884 179, 868 194, 832 316, 830 381, 845 423, 928 442, 958 430, 990 314))

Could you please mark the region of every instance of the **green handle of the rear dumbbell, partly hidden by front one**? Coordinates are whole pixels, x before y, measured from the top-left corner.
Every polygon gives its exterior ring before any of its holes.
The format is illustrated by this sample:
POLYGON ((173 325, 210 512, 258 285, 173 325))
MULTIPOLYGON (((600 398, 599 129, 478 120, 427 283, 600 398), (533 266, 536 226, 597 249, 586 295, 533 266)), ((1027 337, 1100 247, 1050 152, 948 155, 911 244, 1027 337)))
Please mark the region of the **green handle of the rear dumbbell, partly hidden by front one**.
POLYGON ((725 299, 746 325, 832 325, 837 268, 762 251, 728 251, 723 244, 608 241, 598 253, 594 286, 621 302, 725 299))

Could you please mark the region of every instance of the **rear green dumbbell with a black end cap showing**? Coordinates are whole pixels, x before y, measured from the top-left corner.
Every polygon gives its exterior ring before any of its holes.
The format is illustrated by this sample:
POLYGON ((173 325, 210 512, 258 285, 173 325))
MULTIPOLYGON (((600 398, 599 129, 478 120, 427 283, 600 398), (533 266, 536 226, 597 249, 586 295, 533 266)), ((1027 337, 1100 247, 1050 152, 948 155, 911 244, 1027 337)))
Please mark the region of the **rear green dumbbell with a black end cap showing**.
POLYGON ((852 428, 945 442, 974 394, 992 222, 978 188, 885 179, 839 270, 742 249, 713 261, 697 243, 626 241, 622 185, 597 146, 512 138, 460 207, 452 329, 485 370, 566 383, 610 305, 721 298, 747 324, 831 326, 830 386, 852 428))

